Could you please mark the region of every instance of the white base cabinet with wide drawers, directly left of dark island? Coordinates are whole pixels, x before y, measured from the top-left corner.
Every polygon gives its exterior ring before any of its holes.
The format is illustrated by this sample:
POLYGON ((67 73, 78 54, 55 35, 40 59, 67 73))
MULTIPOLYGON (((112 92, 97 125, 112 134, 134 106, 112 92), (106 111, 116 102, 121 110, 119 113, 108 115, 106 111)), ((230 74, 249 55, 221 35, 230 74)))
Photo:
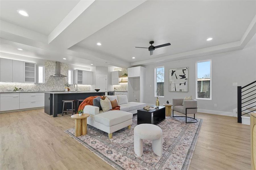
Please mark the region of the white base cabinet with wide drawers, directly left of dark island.
POLYGON ((44 93, 20 93, 20 109, 44 107, 44 93))

